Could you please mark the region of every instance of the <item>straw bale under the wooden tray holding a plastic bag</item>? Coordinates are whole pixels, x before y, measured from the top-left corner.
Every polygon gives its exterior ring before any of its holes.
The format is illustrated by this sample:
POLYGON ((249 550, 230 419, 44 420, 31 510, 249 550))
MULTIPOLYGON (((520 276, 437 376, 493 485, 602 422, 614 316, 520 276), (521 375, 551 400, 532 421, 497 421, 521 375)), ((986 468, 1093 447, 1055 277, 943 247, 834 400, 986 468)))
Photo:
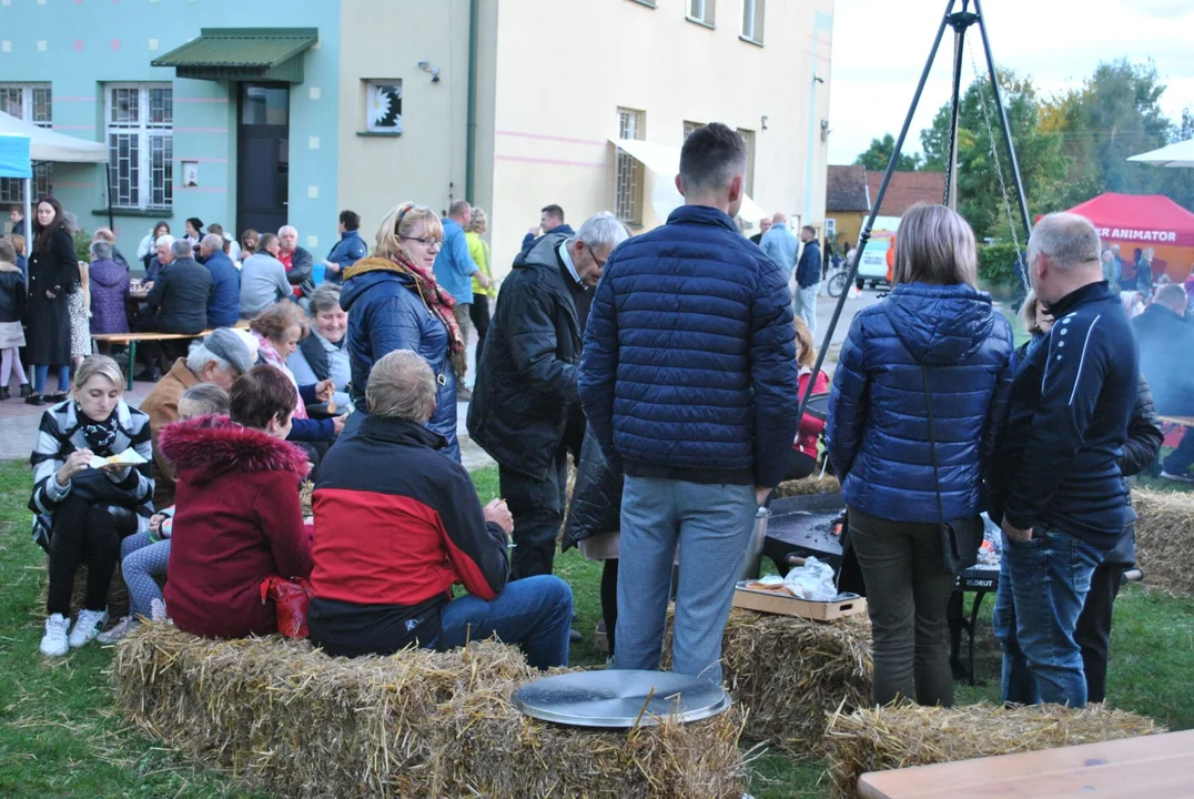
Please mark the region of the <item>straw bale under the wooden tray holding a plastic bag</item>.
MULTIPOLYGON (((664 663, 671 663, 667 615, 664 663)), ((870 620, 825 623, 734 608, 721 639, 726 690, 746 711, 743 737, 821 755, 825 714, 870 702, 870 620)))

